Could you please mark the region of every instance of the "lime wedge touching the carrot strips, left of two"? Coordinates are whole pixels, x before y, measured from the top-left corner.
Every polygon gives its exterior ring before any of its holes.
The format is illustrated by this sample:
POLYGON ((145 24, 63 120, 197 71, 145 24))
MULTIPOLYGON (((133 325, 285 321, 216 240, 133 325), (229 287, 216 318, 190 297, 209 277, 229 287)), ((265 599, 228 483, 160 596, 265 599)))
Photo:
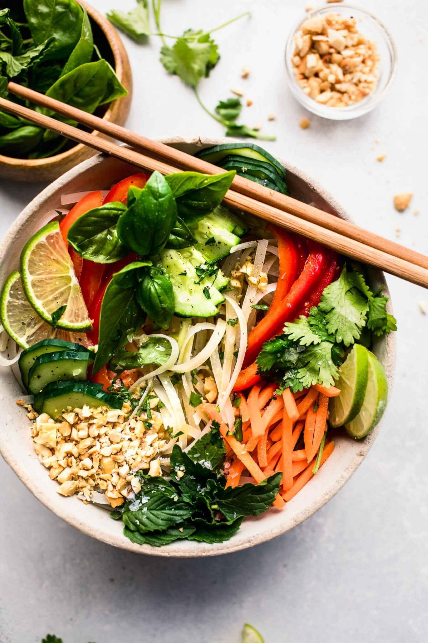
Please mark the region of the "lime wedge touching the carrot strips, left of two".
POLYGON ((330 398, 331 426, 343 426, 358 415, 366 394, 367 377, 368 350, 361 344, 355 344, 339 368, 339 379, 334 383, 340 389, 340 395, 330 398))

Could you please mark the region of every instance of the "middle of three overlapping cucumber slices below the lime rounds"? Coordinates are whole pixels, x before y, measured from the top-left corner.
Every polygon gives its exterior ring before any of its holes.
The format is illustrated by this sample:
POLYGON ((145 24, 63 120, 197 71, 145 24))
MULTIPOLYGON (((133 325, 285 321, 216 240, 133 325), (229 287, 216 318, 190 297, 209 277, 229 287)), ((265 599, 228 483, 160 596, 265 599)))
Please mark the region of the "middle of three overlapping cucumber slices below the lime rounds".
POLYGON ((94 354, 89 351, 64 350, 40 355, 28 373, 28 390, 35 395, 51 382, 87 379, 92 361, 94 354))

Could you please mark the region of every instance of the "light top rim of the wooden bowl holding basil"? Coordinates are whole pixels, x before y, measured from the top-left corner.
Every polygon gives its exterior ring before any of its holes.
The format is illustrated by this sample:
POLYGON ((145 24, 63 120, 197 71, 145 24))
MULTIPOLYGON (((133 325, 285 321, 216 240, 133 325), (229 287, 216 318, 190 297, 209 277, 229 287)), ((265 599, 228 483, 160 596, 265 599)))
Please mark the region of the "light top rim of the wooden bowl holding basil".
MULTIPOLYGON (((92 5, 89 5, 86 0, 76 0, 79 5, 83 6, 89 15, 89 17, 98 24, 99 28, 102 30, 102 32, 105 34, 108 42, 108 46, 110 47, 110 50, 112 51, 112 55, 114 58, 114 69, 116 71, 116 75, 121 80, 124 76, 124 59, 123 59, 123 52, 124 55, 127 58, 126 51, 124 50, 124 47, 122 45, 121 38, 119 36, 119 33, 117 33, 116 29, 108 21, 108 19, 101 14, 98 9, 94 8, 92 5), (121 46, 119 46, 119 43, 121 46)), ((129 61, 128 61, 129 64, 129 61)), ((132 87, 128 87, 128 95, 132 92, 132 87)), ((124 96, 126 98, 126 96, 124 96)), ((115 113, 116 113, 116 104, 117 100, 120 100, 120 98, 116 98, 110 104, 108 104, 108 109, 106 110, 105 114, 103 115, 104 120, 112 120, 114 118, 115 113)), ((94 134, 94 136, 102 136, 100 132, 94 130, 91 132, 91 134, 94 134)), ((15 156, 4 156, 4 154, 0 154, 0 165, 8 166, 10 168, 22 168, 22 169, 29 169, 29 170, 40 170, 42 168, 46 167, 51 167, 51 165, 55 165, 56 163, 60 164, 63 162, 69 161, 71 158, 73 158, 74 154, 79 154, 81 150, 85 149, 85 145, 83 143, 76 143, 76 145, 73 145, 68 150, 65 150, 65 152, 60 152, 60 154, 54 154, 54 156, 47 156, 47 158, 44 159, 19 159, 16 158, 15 156)))

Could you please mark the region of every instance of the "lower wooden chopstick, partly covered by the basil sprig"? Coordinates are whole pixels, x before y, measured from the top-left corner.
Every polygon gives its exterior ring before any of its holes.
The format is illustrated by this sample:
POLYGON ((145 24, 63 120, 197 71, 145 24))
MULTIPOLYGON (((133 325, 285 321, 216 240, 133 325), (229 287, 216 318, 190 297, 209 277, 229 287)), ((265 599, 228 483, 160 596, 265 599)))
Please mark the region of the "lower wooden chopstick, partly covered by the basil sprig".
MULTIPOLYGON (((28 107, 17 105, 4 98, 0 98, 0 109, 15 114, 15 116, 21 116, 26 120, 40 125, 40 127, 45 127, 53 132, 62 134, 62 136, 66 136, 71 140, 88 145, 93 149, 99 150, 99 152, 111 154, 137 167, 152 171, 157 170, 161 174, 172 174, 173 172, 182 171, 176 167, 167 165, 163 161, 145 156, 140 152, 117 145, 112 141, 101 139, 99 136, 94 136, 94 134, 77 129, 67 123, 62 123, 45 114, 39 114, 32 109, 28 109, 28 107)), ((234 208, 243 210, 244 212, 250 212, 265 221, 282 226, 308 239, 318 241, 343 255, 378 267, 391 275, 399 276, 409 282, 428 288, 428 270, 389 254, 387 251, 389 242, 386 239, 384 240, 386 251, 372 248, 357 240, 344 237, 335 231, 327 230, 312 222, 298 219, 298 217, 287 212, 282 212, 282 210, 278 210, 269 204, 255 201, 255 199, 234 192, 234 190, 228 190, 224 201, 234 208)))

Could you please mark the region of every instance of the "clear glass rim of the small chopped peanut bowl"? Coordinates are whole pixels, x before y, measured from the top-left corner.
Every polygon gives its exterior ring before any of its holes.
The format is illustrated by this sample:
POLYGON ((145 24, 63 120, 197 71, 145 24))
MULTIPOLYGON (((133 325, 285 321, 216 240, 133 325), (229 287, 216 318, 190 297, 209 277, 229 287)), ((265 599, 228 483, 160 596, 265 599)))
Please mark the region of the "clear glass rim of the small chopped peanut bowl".
POLYGON ((388 28, 381 21, 381 19, 379 19, 375 14, 372 14, 372 12, 362 7, 342 3, 340 5, 327 5, 314 8, 310 12, 308 12, 304 18, 300 18, 295 23, 287 37, 285 62, 289 88, 295 99, 300 103, 300 105, 302 105, 302 107, 305 107, 305 109, 310 111, 312 114, 321 116, 321 118, 327 118, 328 120, 351 120, 353 118, 358 118, 359 116, 364 116, 364 114, 368 114, 369 112, 371 112, 373 109, 375 109, 375 107, 377 107, 377 105, 379 105, 382 98, 384 98, 386 92, 393 84, 395 77, 397 76, 398 68, 397 46, 391 35, 391 32, 389 32, 388 28), (357 103, 347 105, 347 107, 329 107, 328 105, 317 103, 316 100, 314 100, 310 96, 305 95, 302 91, 302 88, 298 86, 293 72, 291 59, 289 57, 289 48, 291 48, 291 45, 293 44, 295 33, 299 30, 300 26, 302 26, 302 24, 306 20, 313 17, 314 15, 332 13, 341 14, 344 10, 357 12, 361 15, 364 15, 365 17, 368 17, 373 23, 377 24, 377 26, 379 27, 379 31, 382 34, 382 37, 384 38, 384 41, 386 42, 386 45, 388 47, 391 69, 389 71, 388 80, 386 81, 386 84, 381 89, 381 91, 378 91, 378 87, 375 87, 375 90, 370 95, 366 96, 366 98, 363 98, 363 100, 359 100, 357 103))

